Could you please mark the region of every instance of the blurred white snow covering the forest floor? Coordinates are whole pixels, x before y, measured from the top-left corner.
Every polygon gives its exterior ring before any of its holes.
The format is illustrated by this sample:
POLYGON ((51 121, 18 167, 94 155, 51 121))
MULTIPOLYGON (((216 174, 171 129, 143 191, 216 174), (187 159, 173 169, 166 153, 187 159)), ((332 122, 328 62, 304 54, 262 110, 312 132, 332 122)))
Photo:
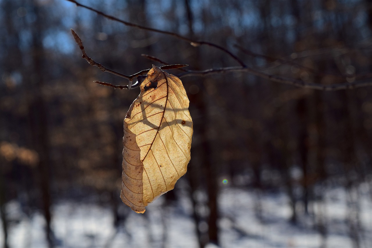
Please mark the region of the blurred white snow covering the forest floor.
MULTIPOLYGON (((361 184, 358 190, 363 197, 358 202, 359 211, 352 213, 353 216, 359 214, 360 218, 360 247, 372 247, 372 202, 368 187, 368 184, 361 184)), ((199 197, 203 198, 203 194, 199 197)), ((291 209, 284 193, 258 194, 257 191, 223 187, 218 222, 221 245, 354 247, 349 234, 350 221, 347 221, 350 218, 348 197, 344 189, 327 190, 323 203, 313 206, 317 216, 301 214, 299 224, 293 225, 288 221, 291 209), (262 218, 258 218, 257 206, 261 206, 262 218), (319 221, 327 228, 323 236, 316 228, 319 221)), ((6 209, 10 219, 10 247, 47 247, 41 213, 27 217, 16 201, 7 203, 6 209)), ((201 206, 200 212, 206 211, 208 209, 201 206)), ((164 199, 160 197, 147 207, 144 215, 130 212, 124 224, 116 229, 109 207, 64 201, 56 203, 52 209, 52 228, 57 247, 197 247, 191 213, 191 203, 186 196, 181 194, 177 206, 164 206, 164 199)), ((205 229, 206 225, 202 223, 199 228, 205 229)), ((3 239, 2 229, 0 238, 3 239)))

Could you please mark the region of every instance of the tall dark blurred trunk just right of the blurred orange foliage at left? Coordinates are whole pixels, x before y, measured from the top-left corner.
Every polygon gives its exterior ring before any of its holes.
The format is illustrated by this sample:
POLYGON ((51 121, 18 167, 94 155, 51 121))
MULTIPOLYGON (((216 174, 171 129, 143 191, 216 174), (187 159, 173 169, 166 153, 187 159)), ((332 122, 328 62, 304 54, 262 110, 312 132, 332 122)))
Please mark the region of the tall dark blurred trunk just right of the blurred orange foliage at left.
POLYGON ((28 99, 28 120, 32 138, 32 146, 35 147, 39 154, 39 187, 42 194, 43 214, 46 222, 45 234, 49 247, 54 247, 53 233, 51 228, 51 196, 50 196, 50 148, 49 148, 49 132, 47 121, 47 107, 43 96, 44 87, 44 48, 42 44, 43 30, 45 28, 45 15, 36 2, 32 2, 33 12, 36 16, 35 25, 32 26, 32 64, 33 68, 29 75, 24 75, 26 87, 29 88, 28 99))

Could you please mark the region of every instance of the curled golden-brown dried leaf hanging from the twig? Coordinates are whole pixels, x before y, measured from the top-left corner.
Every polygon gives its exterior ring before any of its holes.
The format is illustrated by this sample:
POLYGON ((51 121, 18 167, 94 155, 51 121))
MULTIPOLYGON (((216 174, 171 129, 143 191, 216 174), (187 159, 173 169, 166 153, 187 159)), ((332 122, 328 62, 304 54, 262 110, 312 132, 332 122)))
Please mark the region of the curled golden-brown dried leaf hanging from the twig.
POLYGON ((122 201, 137 213, 174 188, 190 161, 192 119, 182 82, 153 65, 124 119, 122 201))

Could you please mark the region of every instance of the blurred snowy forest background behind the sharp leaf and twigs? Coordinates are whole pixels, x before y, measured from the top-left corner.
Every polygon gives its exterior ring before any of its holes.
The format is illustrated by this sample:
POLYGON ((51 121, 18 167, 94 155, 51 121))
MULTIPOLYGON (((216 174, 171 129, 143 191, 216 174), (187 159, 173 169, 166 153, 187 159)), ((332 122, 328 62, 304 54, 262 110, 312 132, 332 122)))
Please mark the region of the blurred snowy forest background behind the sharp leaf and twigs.
MULTIPOLYGON (((81 3, 128 22, 215 42, 257 71, 324 85, 372 78, 369 0, 81 3)), ((170 242, 171 215, 191 223, 184 226, 180 219, 178 235, 189 235, 195 246, 244 246, 235 241, 257 235, 271 239, 270 228, 260 233, 254 225, 275 225, 269 213, 283 207, 288 214, 279 228, 286 237, 292 235, 286 231, 302 229, 319 237, 315 247, 335 246, 331 235, 343 238, 338 245, 371 247, 372 216, 362 214, 372 210, 371 86, 321 91, 243 72, 183 77, 194 121, 188 172, 140 216, 119 198, 122 123, 139 90, 93 83, 128 81, 81 59, 70 28, 89 57, 127 75, 161 65, 141 54, 189 64, 189 70, 239 64, 214 47, 128 27, 68 1, 1 0, 0 8, 3 247, 35 246, 33 224, 22 234, 24 243, 15 234, 21 223, 35 223, 35 216, 42 217, 43 230, 36 244, 103 247, 95 238, 104 228, 83 232, 83 241, 67 245, 72 236, 61 235, 57 222, 66 203, 74 207, 62 216, 62 229, 72 228, 74 211, 100 206, 111 216, 109 237, 135 236, 142 225, 142 246, 148 247, 176 246, 170 242), (336 193, 329 198, 329 192, 336 193), (246 204, 245 197, 252 201, 246 204), (268 206, 270 199, 274 204, 268 206), (332 217, 337 209, 328 208, 335 202, 342 209, 338 219, 332 217), (243 214, 251 217, 240 225, 243 214)), ((89 213, 80 229, 103 217, 89 213)))

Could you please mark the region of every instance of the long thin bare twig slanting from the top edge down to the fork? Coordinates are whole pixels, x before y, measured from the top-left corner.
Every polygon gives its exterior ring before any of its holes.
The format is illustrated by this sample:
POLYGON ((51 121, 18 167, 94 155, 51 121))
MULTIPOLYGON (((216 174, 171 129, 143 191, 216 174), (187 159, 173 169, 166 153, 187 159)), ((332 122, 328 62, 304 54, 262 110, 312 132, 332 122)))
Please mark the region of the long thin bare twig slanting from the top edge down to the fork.
POLYGON ((200 45, 212 46, 212 47, 217 48, 217 49, 219 49, 219 50, 227 53, 228 55, 230 55, 230 57, 232 57, 233 59, 235 59, 235 61, 237 61, 242 67, 245 67, 246 66, 246 64, 244 64, 244 62, 241 61, 241 59, 239 59, 234 54, 232 54, 232 52, 228 51, 226 48, 224 48, 224 47, 222 47, 220 45, 217 45, 215 43, 212 43, 212 42, 209 42, 209 41, 203 41, 203 40, 193 40, 193 39, 187 38, 185 36, 179 35, 177 33, 168 32, 168 31, 164 31, 164 30, 160 30, 160 29, 155 29, 155 28, 148 28, 148 27, 141 26, 141 25, 138 25, 138 24, 126 22, 126 21, 121 20, 119 18, 110 16, 110 15, 106 15, 105 13, 103 13, 103 12, 101 12, 99 10, 93 9, 92 7, 88 7, 88 6, 84 5, 84 4, 78 3, 75 0, 67 0, 67 1, 70 1, 71 3, 76 4, 76 6, 80 6, 80 7, 84 7, 86 9, 92 10, 93 12, 96 12, 97 14, 99 14, 101 16, 104 16, 104 17, 106 17, 108 19, 114 20, 116 22, 123 23, 126 26, 130 26, 130 27, 134 27, 134 28, 140 28, 140 29, 143 29, 143 30, 151 31, 151 32, 163 33, 164 35, 174 36, 174 37, 176 37, 178 39, 182 39, 184 41, 190 42, 190 44, 192 46, 200 46, 200 45))

